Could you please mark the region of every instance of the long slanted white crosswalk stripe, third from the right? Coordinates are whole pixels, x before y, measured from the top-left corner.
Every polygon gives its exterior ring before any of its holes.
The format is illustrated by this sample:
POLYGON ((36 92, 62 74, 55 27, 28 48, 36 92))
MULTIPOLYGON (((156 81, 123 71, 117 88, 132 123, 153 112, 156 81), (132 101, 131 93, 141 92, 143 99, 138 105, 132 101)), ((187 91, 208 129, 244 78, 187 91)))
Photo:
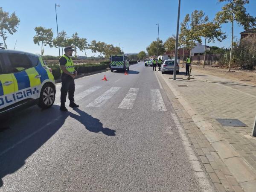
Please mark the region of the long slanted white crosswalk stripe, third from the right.
POLYGON ((121 87, 111 87, 109 90, 107 90, 105 93, 103 93, 101 96, 99 96, 97 99, 95 99, 93 102, 89 103, 86 107, 93 107, 93 108, 99 108, 102 105, 104 105, 112 96, 116 94, 116 92, 121 87))

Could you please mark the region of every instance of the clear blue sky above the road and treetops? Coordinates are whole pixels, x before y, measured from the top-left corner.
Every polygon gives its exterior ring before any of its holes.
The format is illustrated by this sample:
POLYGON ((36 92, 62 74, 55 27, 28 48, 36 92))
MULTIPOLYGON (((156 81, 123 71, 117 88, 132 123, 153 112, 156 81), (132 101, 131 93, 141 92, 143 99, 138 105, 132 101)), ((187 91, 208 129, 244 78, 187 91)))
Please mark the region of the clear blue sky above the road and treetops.
MULTIPOLYGON (((104 41, 118 46, 125 53, 138 53, 157 39, 156 23, 160 22, 159 37, 165 41, 176 34, 178 0, 0 0, 0 6, 9 13, 15 12, 20 25, 14 35, 6 40, 9 49, 13 49, 17 40, 17 50, 40 53, 41 47, 33 43, 35 26, 52 28, 57 35, 55 3, 57 7, 58 29, 69 36, 78 35, 87 41, 104 41)), ((203 10, 210 19, 221 10, 224 3, 217 0, 181 0, 180 22, 184 16, 195 9, 203 10)), ((256 17, 256 0, 250 0, 247 12, 256 17)), ((228 38, 215 42, 215 46, 230 46, 230 23, 222 25, 228 38)), ((236 38, 242 27, 235 25, 236 38)), ((0 42, 3 42, 0 39, 0 42)), ((213 45, 213 44, 209 44, 213 45)), ((58 55, 58 49, 44 47, 44 55, 58 55)), ((93 55, 90 50, 87 56, 93 55)), ((84 55, 79 52, 78 55, 84 55)))

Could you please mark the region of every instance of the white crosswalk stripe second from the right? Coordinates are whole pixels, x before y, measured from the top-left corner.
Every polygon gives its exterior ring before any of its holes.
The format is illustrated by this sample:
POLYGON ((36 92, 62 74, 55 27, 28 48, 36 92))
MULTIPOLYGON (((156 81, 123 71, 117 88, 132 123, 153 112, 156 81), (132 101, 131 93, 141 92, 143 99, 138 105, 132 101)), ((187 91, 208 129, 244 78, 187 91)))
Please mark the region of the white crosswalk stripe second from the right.
POLYGON ((137 94, 139 92, 139 88, 130 88, 125 98, 119 105, 119 109, 132 109, 134 102, 137 98, 137 94))

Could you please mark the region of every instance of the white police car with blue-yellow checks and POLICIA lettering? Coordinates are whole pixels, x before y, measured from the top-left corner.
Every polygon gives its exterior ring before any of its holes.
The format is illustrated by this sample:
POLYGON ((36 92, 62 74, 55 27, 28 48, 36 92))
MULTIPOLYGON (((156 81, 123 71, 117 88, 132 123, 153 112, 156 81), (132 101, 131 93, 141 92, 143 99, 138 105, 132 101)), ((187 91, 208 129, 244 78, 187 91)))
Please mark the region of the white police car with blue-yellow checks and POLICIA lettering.
POLYGON ((35 104, 49 108, 55 93, 52 70, 41 56, 0 49, 0 115, 35 104))

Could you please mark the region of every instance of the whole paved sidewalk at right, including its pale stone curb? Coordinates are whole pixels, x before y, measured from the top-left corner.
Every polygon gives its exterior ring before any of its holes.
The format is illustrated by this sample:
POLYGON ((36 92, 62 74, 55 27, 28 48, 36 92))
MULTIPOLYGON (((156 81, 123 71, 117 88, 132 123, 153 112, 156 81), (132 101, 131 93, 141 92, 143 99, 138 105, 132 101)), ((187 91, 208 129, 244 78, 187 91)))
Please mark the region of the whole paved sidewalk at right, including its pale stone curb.
MULTIPOLYGON (((180 68, 181 72, 184 70, 180 68)), ((184 73, 177 75, 184 79, 176 81, 169 79, 169 74, 162 77, 244 191, 255 191, 256 138, 251 137, 251 132, 256 115, 256 87, 198 73, 195 68, 192 75, 195 79, 190 81, 184 73), (239 119, 246 127, 222 126, 216 119, 239 119)))

